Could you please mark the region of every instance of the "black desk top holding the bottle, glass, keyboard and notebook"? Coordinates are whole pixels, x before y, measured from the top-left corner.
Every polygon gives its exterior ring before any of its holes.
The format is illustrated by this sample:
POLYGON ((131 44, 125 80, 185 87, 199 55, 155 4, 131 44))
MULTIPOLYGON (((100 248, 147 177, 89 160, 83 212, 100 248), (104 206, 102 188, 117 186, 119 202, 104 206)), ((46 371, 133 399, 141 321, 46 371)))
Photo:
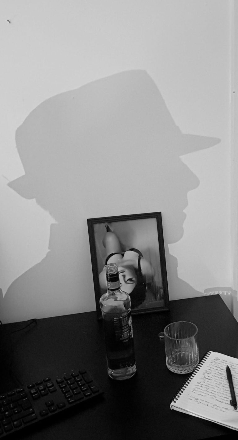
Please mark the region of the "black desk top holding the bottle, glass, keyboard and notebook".
POLYGON ((104 390, 103 398, 92 407, 68 413, 39 429, 35 425, 32 433, 18 438, 194 440, 237 435, 215 423, 170 410, 170 399, 187 375, 167 369, 164 341, 158 333, 177 320, 198 326, 200 358, 207 350, 238 357, 238 323, 219 295, 171 301, 169 312, 133 315, 138 372, 122 382, 107 376, 103 323, 97 320, 96 312, 38 319, 37 324, 12 334, 11 347, 8 335, 27 322, 0 326, 0 392, 18 386, 8 369, 6 355, 12 350, 11 369, 23 383, 84 365, 104 390))

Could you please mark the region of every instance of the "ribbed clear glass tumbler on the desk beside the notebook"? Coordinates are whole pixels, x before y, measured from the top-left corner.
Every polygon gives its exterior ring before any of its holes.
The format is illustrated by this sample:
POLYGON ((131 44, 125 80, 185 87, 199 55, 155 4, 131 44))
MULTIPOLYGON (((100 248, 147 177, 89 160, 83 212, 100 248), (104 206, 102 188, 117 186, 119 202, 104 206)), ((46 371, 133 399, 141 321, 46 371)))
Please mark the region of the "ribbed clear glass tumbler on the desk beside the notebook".
POLYGON ((173 373, 191 373, 199 363, 198 327, 187 321, 177 321, 165 327, 166 365, 173 373))

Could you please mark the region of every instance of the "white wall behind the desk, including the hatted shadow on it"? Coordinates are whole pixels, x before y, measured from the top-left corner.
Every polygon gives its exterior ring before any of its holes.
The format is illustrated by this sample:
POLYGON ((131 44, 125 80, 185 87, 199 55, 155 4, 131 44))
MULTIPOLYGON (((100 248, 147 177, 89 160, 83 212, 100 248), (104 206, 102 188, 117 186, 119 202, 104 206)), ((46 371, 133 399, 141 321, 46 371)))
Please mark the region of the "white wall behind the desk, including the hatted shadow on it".
MULTIPOLYGON (((0 12, 0 287, 4 297, 0 301, 0 319, 13 322, 95 310, 86 222, 90 217, 161 211, 170 299, 198 296, 205 290, 222 290, 223 286, 233 289, 232 2, 2 0, 0 12), (161 140, 158 151, 148 140, 146 130, 140 133, 140 139, 135 132, 129 139, 124 125, 118 136, 114 131, 105 141, 102 126, 97 127, 100 115, 108 133, 112 111, 117 121, 122 109, 130 105, 128 96, 122 101, 117 96, 114 108, 110 97, 117 92, 115 78, 119 78, 120 87, 128 88, 124 90, 133 89, 132 71, 136 78, 139 71, 144 72, 137 84, 145 87, 141 97, 147 99, 146 84, 150 84, 149 107, 153 89, 162 117, 167 118, 168 125, 159 136, 164 143, 161 140), (122 72, 126 73, 126 80, 121 82, 122 72), (65 106, 75 95, 83 100, 85 109, 88 94, 98 87, 106 87, 106 110, 102 106, 103 114, 100 108, 98 113, 93 111, 91 120, 91 108, 88 109, 88 136, 85 132, 83 136, 88 148, 85 151, 81 144, 83 161, 77 157, 76 162, 73 157, 70 162, 70 147, 67 149, 66 144, 79 145, 82 138, 78 137, 77 119, 70 130, 75 108, 68 106, 70 119, 66 120, 65 106), (84 94, 86 97, 82 98, 84 94), (119 108, 118 103, 124 107, 119 108), (169 124, 176 154, 170 150, 169 124), (177 143, 176 126, 180 130, 177 143), (96 139, 90 143, 90 136, 98 136, 98 128, 100 154, 96 139), (44 147, 40 133, 44 133, 44 147), (209 139, 197 138, 184 147, 182 133, 220 141, 210 140, 213 146, 206 148, 209 139), (56 147, 64 136, 65 154, 59 154, 56 147), (137 145, 143 151, 139 156, 137 145), (150 160, 143 146, 148 149, 150 160), (41 148, 45 148, 44 157, 39 154, 41 148), (130 166, 123 165, 125 162, 118 156, 121 152, 125 160, 128 154, 130 166), (144 168, 145 161, 152 167, 149 172, 144 168), (114 176, 108 167, 117 163, 120 168, 115 166, 117 179, 112 187, 114 176), (19 185, 7 185, 25 173, 28 179, 22 191, 19 185), (117 203, 112 200, 115 187, 117 203), (49 244, 50 225, 56 222, 58 232, 52 238, 52 228, 49 244)), ((139 93, 134 92, 133 96, 139 93)), ((102 90, 100 93, 102 100, 102 90)), ((90 100, 91 106, 93 99, 95 96, 90 100)), ((99 107, 100 102, 97 101, 99 107)), ((80 127, 84 114, 81 111, 80 127)), ((148 124, 149 120, 148 117, 148 124)), ((129 121, 132 123, 133 119, 129 121)))

